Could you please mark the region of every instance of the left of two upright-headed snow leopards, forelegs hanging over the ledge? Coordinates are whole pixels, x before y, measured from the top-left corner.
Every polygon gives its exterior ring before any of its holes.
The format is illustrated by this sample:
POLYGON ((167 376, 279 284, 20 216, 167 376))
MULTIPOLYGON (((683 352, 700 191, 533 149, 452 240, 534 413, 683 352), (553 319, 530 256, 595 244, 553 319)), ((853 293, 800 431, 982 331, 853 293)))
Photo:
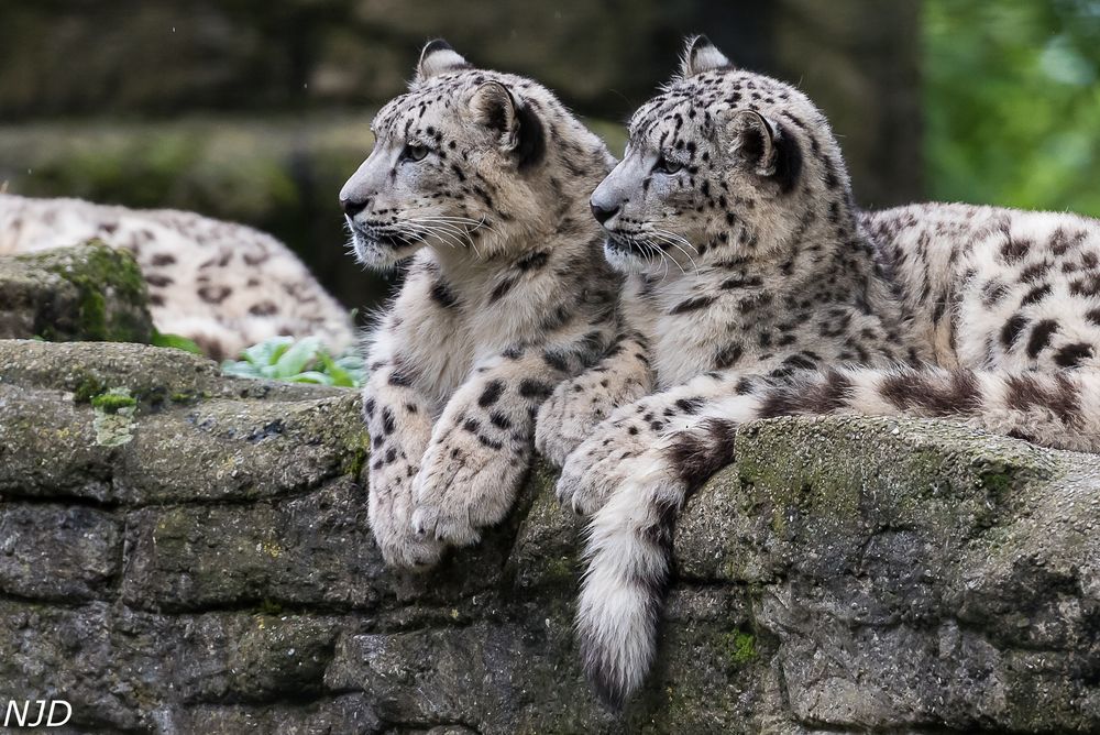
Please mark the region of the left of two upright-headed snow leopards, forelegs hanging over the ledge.
POLYGON ((441 40, 372 130, 340 200, 359 261, 407 271, 365 341, 367 512, 385 561, 420 570, 505 516, 538 406, 617 337, 587 201, 614 158, 548 89, 441 40))

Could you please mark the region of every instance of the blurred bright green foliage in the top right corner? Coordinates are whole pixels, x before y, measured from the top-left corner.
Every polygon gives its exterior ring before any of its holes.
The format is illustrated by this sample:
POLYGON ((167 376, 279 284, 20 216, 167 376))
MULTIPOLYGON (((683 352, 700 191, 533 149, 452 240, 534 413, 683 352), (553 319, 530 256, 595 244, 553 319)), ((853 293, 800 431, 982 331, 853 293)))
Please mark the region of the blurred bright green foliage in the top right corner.
POLYGON ((923 8, 930 198, 1100 216, 1100 2, 923 8))

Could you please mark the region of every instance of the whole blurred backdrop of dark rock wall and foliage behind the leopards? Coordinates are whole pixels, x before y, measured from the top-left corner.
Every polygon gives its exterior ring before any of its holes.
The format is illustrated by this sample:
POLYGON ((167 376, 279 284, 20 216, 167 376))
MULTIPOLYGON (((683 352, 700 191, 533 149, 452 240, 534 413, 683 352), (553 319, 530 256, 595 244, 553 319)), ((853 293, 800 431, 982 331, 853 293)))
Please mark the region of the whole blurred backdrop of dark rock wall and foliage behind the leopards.
POLYGON ((539 78, 620 154, 692 32, 817 101, 865 207, 1100 215, 1100 0, 0 0, 0 186, 246 222, 370 306, 337 193, 426 40, 539 78))

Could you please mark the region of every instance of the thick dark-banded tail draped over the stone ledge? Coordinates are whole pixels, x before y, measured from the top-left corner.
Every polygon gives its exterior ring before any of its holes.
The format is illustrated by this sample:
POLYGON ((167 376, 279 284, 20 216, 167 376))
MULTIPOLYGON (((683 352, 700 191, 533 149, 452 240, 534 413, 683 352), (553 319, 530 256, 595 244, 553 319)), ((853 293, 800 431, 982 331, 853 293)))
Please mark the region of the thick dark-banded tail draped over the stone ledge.
POLYGON ((694 427, 667 437, 588 527, 578 633, 588 679, 614 707, 638 689, 654 658, 675 518, 689 494, 733 461, 744 421, 805 414, 941 417, 1100 451, 1100 372, 854 368, 749 377, 730 387, 694 427))

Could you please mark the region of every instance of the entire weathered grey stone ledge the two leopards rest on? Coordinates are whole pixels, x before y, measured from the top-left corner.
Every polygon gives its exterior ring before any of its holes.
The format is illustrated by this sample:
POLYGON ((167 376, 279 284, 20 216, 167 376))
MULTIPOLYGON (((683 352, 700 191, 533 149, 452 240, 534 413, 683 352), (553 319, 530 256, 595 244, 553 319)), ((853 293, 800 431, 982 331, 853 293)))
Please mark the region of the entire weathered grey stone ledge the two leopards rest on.
POLYGON ((616 715, 580 671, 582 524, 550 469, 481 546, 399 574, 365 451, 353 392, 0 342, 0 691, 66 699, 74 733, 1100 729, 1094 457, 934 421, 744 427, 616 715))

